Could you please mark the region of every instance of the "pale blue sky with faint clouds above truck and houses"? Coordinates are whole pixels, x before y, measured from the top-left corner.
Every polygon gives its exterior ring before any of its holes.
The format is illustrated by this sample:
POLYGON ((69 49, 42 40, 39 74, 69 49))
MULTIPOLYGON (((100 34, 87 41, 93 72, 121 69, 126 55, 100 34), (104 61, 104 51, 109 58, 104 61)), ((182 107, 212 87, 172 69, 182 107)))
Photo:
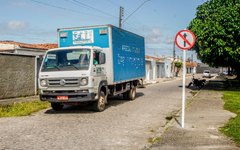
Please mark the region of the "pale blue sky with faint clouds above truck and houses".
MULTIPOLYGON (((0 0, 0 40, 57 43, 57 29, 112 24, 145 38, 146 54, 172 56, 178 31, 186 29, 206 0, 0 0), (126 20, 125 20, 126 19, 126 20)), ((192 57, 193 52, 187 52, 192 57)), ((182 51, 176 48, 176 56, 182 51)), ((194 58, 196 55, 194 54, 194 58)))

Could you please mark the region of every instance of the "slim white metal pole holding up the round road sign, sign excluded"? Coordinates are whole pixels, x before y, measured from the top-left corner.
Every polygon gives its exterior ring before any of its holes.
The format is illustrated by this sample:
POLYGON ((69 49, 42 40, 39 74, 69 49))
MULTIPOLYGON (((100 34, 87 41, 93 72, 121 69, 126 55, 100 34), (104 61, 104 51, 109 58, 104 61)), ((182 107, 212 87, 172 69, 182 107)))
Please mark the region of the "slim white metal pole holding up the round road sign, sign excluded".
POLYGON ((185 118, 185 80, 186 80, 186 50, 183 50, 182 128, 184 128, 184 118, 185 118))

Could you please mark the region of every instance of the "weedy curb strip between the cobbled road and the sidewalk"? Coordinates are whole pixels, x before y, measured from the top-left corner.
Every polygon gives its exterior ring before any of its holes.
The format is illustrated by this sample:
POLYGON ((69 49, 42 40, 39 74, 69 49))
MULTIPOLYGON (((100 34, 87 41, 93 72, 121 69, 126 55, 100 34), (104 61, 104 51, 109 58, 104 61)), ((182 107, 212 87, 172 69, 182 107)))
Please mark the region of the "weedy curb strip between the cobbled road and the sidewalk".
MULTIPOLYGON (((188 102, 186 104, 185 110, 188 109, 192 102, 194 101, 194 98, 196 96, 198 96, 198 94, 201 92, 201 90, 197 91, 196 94, 194 94, 190 99, 188 99, 188 102)), ((156 130, 156 134, 152 137, 152 139, 160 139, 157 141, 153 141, 152 143, 147 144, 147 146, 145 147, 145 149, 150 149, 154 144, 156 144, 157 142, 161 141, 162 136, 165 132, 168 131, 168 129, 174 124, 176 123, 175 118, 176 116, 180 116, 182 112, 182 108, 179 108, 178 110, 174 111, 174 113, 171 114, 171 119, 166 121, 166 124, 163 127, 163 130, 161 131, 161 129, 159 128, 158 130, 156 130)))

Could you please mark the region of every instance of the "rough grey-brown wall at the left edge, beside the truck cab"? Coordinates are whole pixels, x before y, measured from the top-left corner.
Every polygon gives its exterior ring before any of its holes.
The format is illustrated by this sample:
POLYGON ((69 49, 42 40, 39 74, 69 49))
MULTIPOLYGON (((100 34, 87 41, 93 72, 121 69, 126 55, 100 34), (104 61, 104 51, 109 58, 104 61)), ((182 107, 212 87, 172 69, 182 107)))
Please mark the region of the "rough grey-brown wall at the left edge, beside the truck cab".
POLYGON ((0 53, 0 99, 35 95, 37 57, 0 53))

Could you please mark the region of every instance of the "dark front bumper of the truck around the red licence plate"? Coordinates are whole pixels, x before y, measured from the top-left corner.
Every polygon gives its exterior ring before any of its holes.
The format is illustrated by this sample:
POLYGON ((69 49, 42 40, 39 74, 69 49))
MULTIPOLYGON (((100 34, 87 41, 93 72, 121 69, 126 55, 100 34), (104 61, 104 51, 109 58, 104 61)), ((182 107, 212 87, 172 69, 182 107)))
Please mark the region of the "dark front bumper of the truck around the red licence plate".
POLYGON ((49 101, 49 102, 88 102, 88 101, 95 101, 95 93, 68 93, 68 92, 61 92, 61 93, 41 93, 40 100, 41 101, 49 101), (58 100, 58 96, 66 96, 68 99, 66 100, 58 100))

